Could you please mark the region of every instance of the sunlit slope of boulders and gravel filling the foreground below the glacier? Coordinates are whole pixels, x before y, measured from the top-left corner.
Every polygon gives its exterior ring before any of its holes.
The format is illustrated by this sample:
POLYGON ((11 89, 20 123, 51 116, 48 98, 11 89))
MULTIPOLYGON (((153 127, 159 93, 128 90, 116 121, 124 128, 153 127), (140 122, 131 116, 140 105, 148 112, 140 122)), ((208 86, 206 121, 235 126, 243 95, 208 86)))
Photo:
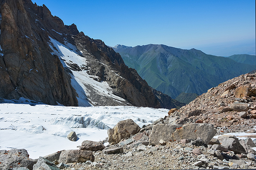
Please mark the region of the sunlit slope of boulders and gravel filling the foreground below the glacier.
POLYGON ((108 139, 84 141, 77 150, 37 160, 24 149, 0 150, 0 169, 255 169, 254 96, 256 74, 241 75, 150 125, 140 128, 131 119, 120 121, 108 130, 108 139), (224 135, 229 132, 248 135, 239 140, 224 135), (110 145, 104 146, 107 141, 110 145))

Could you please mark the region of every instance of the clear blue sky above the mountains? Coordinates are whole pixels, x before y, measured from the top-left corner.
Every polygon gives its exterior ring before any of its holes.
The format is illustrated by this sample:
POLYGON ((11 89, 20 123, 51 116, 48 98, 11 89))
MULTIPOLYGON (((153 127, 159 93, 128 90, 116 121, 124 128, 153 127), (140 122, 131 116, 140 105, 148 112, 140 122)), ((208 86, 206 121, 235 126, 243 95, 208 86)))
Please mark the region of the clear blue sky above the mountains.
POLYGON ((32 0, 106 45, 255 55, 255 0, 32 0))

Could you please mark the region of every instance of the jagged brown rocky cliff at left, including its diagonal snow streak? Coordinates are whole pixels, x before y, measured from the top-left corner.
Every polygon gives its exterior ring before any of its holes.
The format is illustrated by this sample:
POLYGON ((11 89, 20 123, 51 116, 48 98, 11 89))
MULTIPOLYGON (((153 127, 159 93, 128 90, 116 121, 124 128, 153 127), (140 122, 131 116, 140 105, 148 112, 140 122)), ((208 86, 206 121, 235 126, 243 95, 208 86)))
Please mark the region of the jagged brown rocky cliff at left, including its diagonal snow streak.
MULTIPOLYGON (((30 0, 0 2, 0 97, 64 106, 164 106, 101 40, 30 0)), ((171 98, 167 96, 169 100, 171 98)))

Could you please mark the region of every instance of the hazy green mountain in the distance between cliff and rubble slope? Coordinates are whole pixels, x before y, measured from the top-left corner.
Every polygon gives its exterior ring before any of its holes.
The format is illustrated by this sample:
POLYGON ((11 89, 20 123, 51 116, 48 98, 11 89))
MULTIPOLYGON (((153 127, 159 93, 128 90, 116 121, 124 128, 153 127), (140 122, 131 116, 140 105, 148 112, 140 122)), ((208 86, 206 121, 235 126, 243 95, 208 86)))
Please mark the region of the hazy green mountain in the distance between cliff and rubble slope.
POLYGON ((125 64, 135 68, 148 85, 176 98, 181 92, 202 94, 230 78, 248 73, 253 65, 207 55, 200 50, 166 45, 113 48, 125 64))

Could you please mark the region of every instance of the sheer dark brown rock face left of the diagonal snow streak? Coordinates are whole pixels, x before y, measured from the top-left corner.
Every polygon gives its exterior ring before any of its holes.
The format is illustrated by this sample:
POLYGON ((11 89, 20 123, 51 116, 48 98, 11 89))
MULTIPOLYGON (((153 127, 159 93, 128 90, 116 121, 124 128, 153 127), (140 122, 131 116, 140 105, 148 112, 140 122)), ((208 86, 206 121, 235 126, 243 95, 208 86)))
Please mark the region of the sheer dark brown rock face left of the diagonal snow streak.
POLYGON ((47 43, 49 35, 58 39, 53 30, 69 32, 63 22, 30 0, 2 0, 0 6, 0 97, 78 106, 69 75, 47 43))

